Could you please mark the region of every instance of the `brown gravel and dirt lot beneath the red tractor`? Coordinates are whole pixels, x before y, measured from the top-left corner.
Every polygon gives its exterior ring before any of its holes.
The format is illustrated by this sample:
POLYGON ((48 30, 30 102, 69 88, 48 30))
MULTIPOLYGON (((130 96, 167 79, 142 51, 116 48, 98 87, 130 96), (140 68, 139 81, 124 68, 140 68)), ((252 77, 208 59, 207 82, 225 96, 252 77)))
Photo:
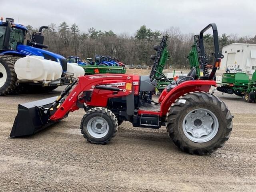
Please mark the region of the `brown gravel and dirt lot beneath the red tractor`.
POLYGON ((89 144, 80 134, 83 110, 34 136, 8 139, 18 103, 61 90, 0 98, 0 192, 256 190, 255 103, 216 92, 235 116, 234 126, 225 146, 207 156, 181 152, 165 127, 130 123, 110 144, 89 144))

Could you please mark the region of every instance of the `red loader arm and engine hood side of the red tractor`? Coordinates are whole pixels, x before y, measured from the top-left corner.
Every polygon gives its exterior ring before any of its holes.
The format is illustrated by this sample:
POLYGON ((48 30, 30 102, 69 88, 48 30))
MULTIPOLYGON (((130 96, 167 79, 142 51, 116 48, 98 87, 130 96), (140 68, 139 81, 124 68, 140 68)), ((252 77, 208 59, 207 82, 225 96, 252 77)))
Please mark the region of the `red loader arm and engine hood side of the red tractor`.
MULTIPOLYGON (((90 100, 87 102, 91 106, 106 106, 107 100, 110 97, 121 97, 121 96, 128 96, 132 93, 132 76, 128 75, 92 75, 92 76, 81 76, 77 78, 77 84, 74 89, 68 94, 67 98, 62 104, 58 104, 59 101, 64 97, 65 90, 60 94, 60 96, 56 99, 56 101, 52 104, 52 108, 50 107, 49 110, 55 110, 56 112, 50 116, 50 120, 57 121, 63 118, 69 112, 73 112, 78 110, 81 104, 84 104, 84 92, 91 91, 93 96, 97 96, 98 98, 96 101, 90 100), (122 81, 124 86, 119 90, 117 88, 111 88, 106 86, 104 82, 110 80, 116 80, 118 82, 122 81), (102 85, 102 86, 101 86, 102 85), (113 94, 116 92, 116 94, 113 94)), ((94 97, 94 98, 95 98, 94 97)))

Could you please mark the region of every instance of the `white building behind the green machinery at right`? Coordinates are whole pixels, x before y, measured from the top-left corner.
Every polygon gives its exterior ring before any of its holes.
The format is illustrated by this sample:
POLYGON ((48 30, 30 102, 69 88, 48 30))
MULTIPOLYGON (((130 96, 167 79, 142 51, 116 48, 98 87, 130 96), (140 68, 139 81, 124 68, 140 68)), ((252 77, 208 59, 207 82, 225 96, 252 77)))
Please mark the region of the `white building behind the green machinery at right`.
POLYGON ((221 70, 238 67, 250 74, 256 70, 256 44, 232 43, 222 48, 222 54, 221 70))

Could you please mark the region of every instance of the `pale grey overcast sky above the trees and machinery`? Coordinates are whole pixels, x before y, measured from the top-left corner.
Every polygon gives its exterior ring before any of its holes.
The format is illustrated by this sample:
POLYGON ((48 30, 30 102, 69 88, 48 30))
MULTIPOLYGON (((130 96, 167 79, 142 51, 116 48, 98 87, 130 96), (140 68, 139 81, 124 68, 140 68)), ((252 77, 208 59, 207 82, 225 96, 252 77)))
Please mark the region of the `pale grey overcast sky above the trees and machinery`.
POLYGON ((0 0, 0 16, 33 27, 66 21, 81 32, 94 27, 115 33, 177 26, 198 33, 215 22, 219 34, 256 35, 256 0, 0 0))

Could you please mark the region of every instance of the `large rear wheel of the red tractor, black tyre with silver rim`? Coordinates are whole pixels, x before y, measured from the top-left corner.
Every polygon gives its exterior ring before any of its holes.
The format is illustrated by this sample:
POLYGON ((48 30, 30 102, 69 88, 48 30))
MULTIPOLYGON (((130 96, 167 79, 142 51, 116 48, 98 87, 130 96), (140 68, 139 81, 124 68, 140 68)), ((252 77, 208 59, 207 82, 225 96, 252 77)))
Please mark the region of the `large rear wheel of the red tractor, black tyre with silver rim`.
POLYGON ((224 146, 231 134, 232 116, 216 96, 194 92, 170 107, 167 130, 182 151, 204 155, 224 146))

